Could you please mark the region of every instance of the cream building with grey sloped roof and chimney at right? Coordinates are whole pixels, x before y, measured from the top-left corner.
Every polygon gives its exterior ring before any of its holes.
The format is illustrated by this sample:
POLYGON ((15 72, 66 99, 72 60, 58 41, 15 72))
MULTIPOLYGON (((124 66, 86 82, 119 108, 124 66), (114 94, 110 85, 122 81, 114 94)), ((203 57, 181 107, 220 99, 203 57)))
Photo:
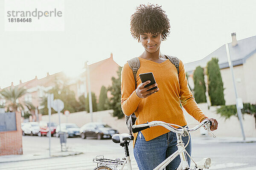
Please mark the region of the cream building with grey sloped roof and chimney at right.
MULTIPOLYGON (((234 77, 236 81, 236 89, 238 97, 243 102, 256 103, 256 36, 236 39, 236 33, 232 33, 232 42, 228 43, 230 58, 233 63, 234 77)), ((206 68, 207 62, 212 57, 218 58, 218 64, 221 69, 221 77, 224 84, 224 99, 226 105, 236 104, 236 96, 233 87, 233 80, 228 64, 226 46, 222 45, 211 54, 201 60, 189 62, 185 64, 188 73, 188 81, 191 88, 194 88, 193 72, 197 66, 206 68)))

